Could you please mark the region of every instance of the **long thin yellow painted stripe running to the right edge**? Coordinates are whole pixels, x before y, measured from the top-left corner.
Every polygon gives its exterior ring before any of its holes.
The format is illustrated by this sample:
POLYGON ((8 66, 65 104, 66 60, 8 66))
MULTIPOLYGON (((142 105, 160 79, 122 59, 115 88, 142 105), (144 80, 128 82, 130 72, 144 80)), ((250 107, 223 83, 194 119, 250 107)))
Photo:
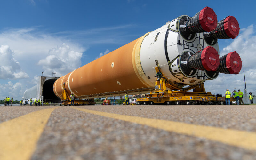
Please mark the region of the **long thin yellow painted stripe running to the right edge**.
POLYGON ((245 149, 256 150, 256 133, 238 131, 232 129, 224 129, 211 126, 186 124, 182 122, 174 122, 160 119, 149 119, 136 116, 125 116, 113 113, 106 113, 82 108, 72 107, 74 109, 92 113, 95 115, 115 118, 136 124, 148 125, 153 128, 162 129, 169 132, 176 132, 189 136, 206 138, 213 141, 218 141, 232 146, 237 146, 245 149))

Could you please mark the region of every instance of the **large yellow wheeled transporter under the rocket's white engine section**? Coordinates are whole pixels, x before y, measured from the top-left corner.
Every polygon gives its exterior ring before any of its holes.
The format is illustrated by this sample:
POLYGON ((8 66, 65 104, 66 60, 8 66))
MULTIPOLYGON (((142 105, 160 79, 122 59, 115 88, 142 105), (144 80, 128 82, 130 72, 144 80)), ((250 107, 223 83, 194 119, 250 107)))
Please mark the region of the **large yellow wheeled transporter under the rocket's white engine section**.
POLYGON ((203 105, 215 105, 221 104, 225 101, 224 97, 216 97, 211 92, 205 92, 204 83, 197 85, 190 85, 187 88, 177 88, 172 86, 172 83, 165 78, 164 74, 161 72, 160 67, 155 67, 156 70, 156 82, 155 89, 151 91, 150 94, 145 94, 145 98, 138 98, 135 101, 138 105, 154 105, 154 104, 165 104, 165 105, 193 105, 193 104, 203 104, 203 105), (171 90, 167 90, 167 87, 171 90), (188 90, 193 89, 193 92, 188 92, 188 90))

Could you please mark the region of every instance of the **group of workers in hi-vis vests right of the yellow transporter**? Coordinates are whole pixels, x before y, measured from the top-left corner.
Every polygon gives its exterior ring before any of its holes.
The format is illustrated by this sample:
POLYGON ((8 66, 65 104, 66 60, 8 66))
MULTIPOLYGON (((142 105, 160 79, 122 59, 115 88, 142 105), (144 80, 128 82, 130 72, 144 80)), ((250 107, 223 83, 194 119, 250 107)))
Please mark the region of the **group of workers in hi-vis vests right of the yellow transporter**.
MULTIPOLYGON (((243 101, 243 97, 244 97, 244 93, 239 89, 238 92, 236 92, 236 90, 233 91, 233 95, 231 96, 231 93, 229 92, 229 90, 226 90, 225 93, 225 100, 226 100, 226 105, 230 105, 230 97, 233 97, 236 100, 236 104, 244 104, 243 101)), ((249 93, 249 100, 251 102, 251 104, 253 103, 253 97, 254 95, 252 95, 252 93, 249 93)))

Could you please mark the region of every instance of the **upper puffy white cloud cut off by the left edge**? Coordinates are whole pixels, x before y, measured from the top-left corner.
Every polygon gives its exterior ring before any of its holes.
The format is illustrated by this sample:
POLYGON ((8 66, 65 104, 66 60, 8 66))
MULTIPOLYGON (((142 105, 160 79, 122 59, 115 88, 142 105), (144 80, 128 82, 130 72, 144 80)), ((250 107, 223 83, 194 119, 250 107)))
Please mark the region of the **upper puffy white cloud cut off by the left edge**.
POLYGON ((0 47, 0 79, 28 78, 28 74, 20 69, 20 64, 13 58, 14 52, 8 45, 0 47))

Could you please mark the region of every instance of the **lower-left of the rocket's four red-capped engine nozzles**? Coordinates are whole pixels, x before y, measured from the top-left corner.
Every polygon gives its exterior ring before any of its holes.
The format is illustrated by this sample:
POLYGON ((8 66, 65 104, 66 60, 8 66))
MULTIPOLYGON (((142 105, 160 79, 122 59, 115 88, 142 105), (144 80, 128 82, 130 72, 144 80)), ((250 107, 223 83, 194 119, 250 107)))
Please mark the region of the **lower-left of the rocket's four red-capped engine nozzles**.
POLYGON ((188 59, 188 67, 207 71, 216 71, 220 64, 219 54, 215 48, 207 46, 188 59))

